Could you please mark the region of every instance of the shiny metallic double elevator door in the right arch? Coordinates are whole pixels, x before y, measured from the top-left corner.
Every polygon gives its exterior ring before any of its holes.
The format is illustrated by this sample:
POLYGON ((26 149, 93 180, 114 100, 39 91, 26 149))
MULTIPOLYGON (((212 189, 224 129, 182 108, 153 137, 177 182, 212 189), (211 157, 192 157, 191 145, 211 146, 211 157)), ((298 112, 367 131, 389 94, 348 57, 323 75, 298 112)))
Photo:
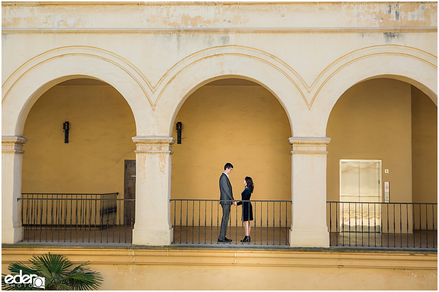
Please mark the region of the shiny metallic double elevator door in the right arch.
POLYGON ((380 203, 381 160, 340 159, 340 232, 380 232, 380 203))

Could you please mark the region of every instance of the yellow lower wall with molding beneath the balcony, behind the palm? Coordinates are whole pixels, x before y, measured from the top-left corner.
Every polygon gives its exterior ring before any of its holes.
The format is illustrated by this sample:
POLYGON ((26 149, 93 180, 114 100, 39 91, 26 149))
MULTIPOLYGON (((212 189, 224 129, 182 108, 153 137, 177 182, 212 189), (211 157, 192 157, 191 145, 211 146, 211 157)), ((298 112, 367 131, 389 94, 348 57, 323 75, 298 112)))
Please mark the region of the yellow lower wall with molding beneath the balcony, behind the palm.
POLYGON ((90 261, 100 290, 437 290, 438 255, 180 248, 2 248, 2 273, 50 252, 90 261))

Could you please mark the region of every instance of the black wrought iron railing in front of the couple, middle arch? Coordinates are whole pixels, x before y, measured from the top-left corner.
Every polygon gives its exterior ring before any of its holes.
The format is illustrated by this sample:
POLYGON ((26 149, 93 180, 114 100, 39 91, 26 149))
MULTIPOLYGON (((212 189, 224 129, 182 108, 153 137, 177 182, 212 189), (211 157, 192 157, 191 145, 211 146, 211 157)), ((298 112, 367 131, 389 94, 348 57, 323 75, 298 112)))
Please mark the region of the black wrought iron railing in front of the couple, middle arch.
MULTIPOLYGON (((171 221, 175 244, 217 244, 222 207, 220 200, 171 199, 171 221)), ((238 202, 249 202, 236 200, 238 202)), ((232 201, 230 201, 232 202, 232 201)), ((250 201, 250 242, 245 236, 242 207, 231 206, 226 237, 230 244, 289 246, 291 201, 250 201)))

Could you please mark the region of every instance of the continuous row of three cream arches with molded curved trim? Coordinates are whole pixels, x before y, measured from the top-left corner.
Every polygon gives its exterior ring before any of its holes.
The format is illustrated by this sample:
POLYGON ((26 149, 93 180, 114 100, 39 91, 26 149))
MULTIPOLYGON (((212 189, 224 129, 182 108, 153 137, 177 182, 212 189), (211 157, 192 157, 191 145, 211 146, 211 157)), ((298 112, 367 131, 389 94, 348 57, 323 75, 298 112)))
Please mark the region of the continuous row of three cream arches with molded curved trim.
POLYGON ((412 83, 437 103, 437 60, 424 51, 397 45, 370 46, 343 58, 334 56, 326 68, 317 61, 308 65, 310 72, 321 69, 311 84, 273 54, 251 47, 220 46, 182 58, 153 85, 135 63, 122 56, 88 46, 63 47, 31 58, 6 80, 2 130, 20 135, 25 116, 40 94, 75 76, 91 76, 120 91, 133 110, 139 136, 170 135, 185 98, 208 81, 227 76, 254 80, 270 90, 284 107, 294 136, 325 136, 327 118, 339 96, 376 76, 412 83))

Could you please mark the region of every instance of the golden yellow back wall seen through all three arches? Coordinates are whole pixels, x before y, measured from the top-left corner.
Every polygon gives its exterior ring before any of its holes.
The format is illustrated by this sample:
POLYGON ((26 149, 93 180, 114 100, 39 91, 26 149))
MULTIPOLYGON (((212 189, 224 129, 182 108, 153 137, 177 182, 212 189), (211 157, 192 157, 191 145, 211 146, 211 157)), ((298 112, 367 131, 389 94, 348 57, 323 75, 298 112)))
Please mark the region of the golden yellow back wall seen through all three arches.
MULTIPOLYGON (((291 199, 291 148, 286 143, 291 129, 269 91, 204 86, 185 101, 177 121, 183 123, 184 139, 172 148, 173 199, 219 199, 225 162, 235 166, 230 180, 236 199, 245 176, 256 185, 252 200, 291 199)), ((123 162, 135 159, 135 125, 114 88, 53 87, 30 111, 24 136, 29 142, 24 146, 22 192, 123 194, 123 162), (62 131, 66 120, 71 124, 69 144, 64 144, 62 131)), ((175 132, 173 136, 177 138, 175 132)), ((391 201, 411 201, 411 182, 417 190, 413 201, 437 201, 437 107, 416 88, 392 79, 354 86, 334 107, 327 136, 332 139, 328 200, 338 200, 339 159, 382 159, 383 169, 390 169, 383 180, 391 182, 391 201)), ((240 207, 237 211, 240 218, 240 207)))

